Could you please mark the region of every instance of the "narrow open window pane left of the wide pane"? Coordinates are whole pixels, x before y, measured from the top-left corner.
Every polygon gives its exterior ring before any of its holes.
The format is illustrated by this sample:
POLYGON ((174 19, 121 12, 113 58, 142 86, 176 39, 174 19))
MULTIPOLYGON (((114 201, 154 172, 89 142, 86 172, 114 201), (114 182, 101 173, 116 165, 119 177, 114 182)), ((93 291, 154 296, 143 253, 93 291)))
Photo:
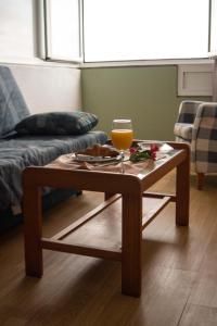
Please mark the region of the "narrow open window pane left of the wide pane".
POLYGON ((44 3, 47 59, 80 61, 80 1, 47 0, 44 3))

